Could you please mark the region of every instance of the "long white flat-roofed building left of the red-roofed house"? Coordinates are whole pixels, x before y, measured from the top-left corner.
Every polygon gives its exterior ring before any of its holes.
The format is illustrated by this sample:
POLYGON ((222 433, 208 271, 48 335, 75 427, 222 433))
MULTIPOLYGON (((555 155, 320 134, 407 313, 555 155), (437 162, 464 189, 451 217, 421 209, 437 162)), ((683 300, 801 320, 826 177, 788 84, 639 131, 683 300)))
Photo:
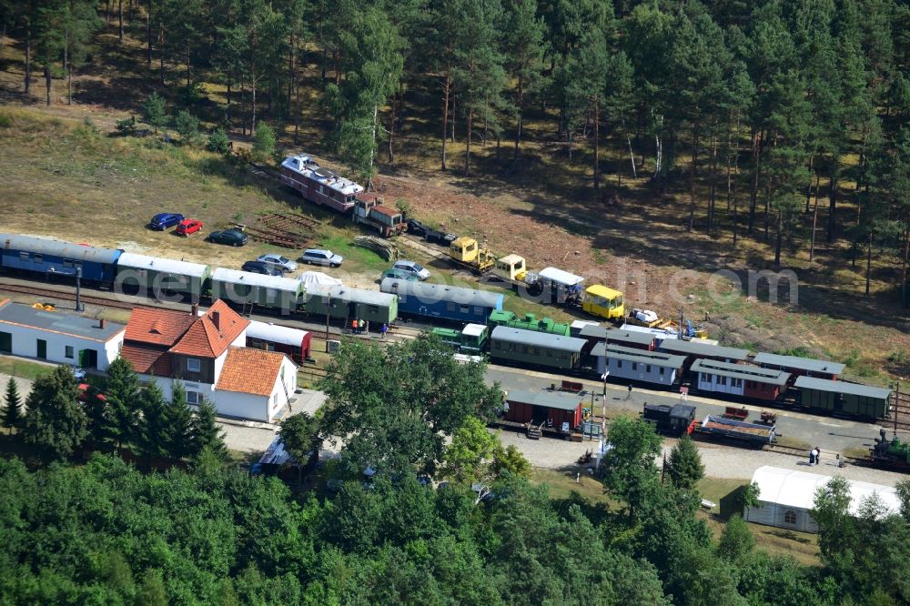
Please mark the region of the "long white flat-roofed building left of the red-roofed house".
POLYGON ((126 326, 64 309, 0 301, 0 353, 106 370, 123 347, 126 326))

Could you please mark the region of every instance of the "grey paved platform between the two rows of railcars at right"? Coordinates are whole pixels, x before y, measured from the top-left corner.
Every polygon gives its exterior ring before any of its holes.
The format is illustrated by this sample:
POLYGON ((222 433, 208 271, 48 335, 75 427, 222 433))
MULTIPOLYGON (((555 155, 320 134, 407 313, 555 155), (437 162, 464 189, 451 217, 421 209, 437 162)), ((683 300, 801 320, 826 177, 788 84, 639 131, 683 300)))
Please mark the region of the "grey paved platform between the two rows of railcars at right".
MULTIPOLYGON (((562 377, 542 372, 511 369, 509 367, 490 365, 487 371, 487 380, 490 384, 499 381, 502 389, 548 389, 552 383, 559 384, 562 377)), ((593 399, 593 411, 601 414, 603 384, 600 381, 581 380, 585 388, 588 401, 593 399)), ((651 404, 675 404, 680 401, 678 394, 669 391, 656 391, 652 389, 632 389, 629 396, 624 386, 607 385, 606 412, 607 417, 615 416, 618 412, 640 413, 645 402, 651 404)), ((722 414, 726 402, 703 397, 689 397, 689 403, 696 407, 696 417, 703 418, 705 414, 722 414)), ((750 410, 750 417, 757 418, 762 407, 749 404, 744 407, 750 410)), ((778 413, 777 431, 784 437, 801 440, 804 443, 820 446, 825 450, 843 452, 849 448, 869 448, 874 445, 878 437, 880 426, 871 423, 862 423, 832 417, 819 417, 793 410, 776 410, 778 413)))

